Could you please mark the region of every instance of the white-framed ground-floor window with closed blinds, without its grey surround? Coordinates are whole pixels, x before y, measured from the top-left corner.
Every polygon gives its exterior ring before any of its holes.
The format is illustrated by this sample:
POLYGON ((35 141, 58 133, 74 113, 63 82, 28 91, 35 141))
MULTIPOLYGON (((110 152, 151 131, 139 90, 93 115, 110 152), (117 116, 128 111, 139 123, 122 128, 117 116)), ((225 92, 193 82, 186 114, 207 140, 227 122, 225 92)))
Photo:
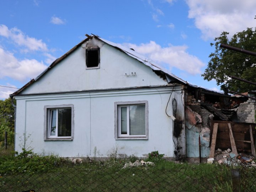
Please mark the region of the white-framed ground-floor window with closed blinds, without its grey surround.
POLYGON ((145 104, 120 105, 118 112, 119 137, 146 136, 145 104))

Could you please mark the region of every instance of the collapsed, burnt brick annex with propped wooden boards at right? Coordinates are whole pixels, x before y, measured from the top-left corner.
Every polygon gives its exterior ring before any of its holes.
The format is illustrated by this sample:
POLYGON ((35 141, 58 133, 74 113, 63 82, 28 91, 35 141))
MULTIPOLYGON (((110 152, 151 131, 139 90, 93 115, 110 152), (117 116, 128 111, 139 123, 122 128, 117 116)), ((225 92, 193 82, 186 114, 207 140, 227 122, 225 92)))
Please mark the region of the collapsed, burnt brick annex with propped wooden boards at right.
POLYGON ((236 151, 232 149, 231 153, 236 155, 255 156, 255 92, 243 95, 224 95, 202 88, 188 91, 185 100, 188 160, 198 162, 200 157, 211 161, 217 149, 226 151, 232 147, 236 151))

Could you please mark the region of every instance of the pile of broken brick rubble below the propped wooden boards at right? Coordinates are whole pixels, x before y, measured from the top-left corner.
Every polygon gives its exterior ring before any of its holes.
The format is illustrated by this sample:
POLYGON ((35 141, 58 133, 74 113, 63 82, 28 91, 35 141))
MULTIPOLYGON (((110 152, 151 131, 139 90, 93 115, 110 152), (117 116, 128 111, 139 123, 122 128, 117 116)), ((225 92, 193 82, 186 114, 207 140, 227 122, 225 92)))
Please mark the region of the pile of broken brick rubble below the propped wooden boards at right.
POLYGON ((213 162, 218 162, 218 164, 225 164, 228 166, 256 166, 256 162, 253 160, 254 156, 246 154, 235 155, 230 149, 224 151, 217 149, 214 156, 215 158, 207 159, 207 163, 212 164, 213 162))

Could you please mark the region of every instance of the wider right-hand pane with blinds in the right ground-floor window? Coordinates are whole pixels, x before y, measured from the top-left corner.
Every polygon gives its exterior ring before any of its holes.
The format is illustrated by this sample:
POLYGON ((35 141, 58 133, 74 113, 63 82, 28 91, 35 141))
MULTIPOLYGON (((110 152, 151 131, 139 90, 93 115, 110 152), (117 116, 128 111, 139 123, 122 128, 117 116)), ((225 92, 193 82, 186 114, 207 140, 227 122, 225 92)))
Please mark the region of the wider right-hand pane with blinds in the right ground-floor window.
POLYGON ((145 135, 145 105, 129 106, 130 135, 145 135))

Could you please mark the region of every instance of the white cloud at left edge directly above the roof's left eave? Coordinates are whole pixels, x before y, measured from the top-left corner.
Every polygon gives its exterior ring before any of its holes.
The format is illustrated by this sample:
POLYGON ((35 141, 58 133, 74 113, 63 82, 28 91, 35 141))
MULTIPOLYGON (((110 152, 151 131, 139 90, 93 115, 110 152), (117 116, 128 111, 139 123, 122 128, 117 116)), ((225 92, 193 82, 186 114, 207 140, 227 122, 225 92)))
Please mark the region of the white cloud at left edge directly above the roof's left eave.
POLYGON ((26 81, 27 78, 35 78, 46 69, 43 62, 36 59, 18 60, 10 52, 0 48, 0 77, 10 77, 18 81, 26 81))

